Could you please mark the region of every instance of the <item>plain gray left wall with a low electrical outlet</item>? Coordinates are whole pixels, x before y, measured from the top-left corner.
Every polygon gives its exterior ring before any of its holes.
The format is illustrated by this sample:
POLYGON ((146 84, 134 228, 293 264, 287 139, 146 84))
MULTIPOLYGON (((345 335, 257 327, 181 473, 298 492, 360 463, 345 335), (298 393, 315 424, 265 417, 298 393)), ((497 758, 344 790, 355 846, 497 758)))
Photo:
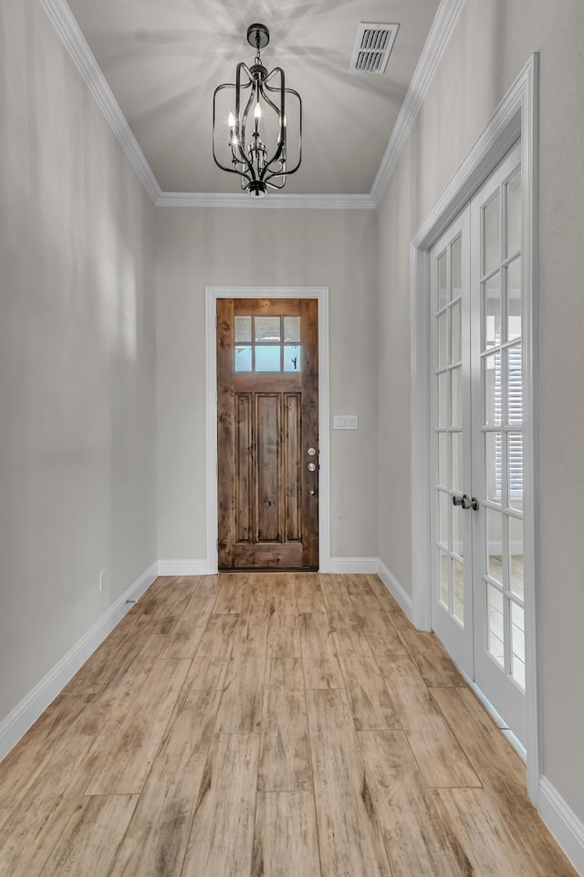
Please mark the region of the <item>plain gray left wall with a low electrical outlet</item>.
POLYGON ((41 5, 2 0, 0 721, 156 558, 153 214, 41 5))

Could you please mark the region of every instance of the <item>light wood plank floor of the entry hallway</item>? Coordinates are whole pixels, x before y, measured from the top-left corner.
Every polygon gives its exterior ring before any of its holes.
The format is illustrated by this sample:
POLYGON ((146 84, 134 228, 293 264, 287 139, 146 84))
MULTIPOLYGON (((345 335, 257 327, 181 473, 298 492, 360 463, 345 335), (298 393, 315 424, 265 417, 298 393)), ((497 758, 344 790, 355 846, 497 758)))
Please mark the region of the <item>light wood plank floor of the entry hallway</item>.
POLYGON ((0 877, 576 877, 373 576, 159 578, 0 764, 0 877))

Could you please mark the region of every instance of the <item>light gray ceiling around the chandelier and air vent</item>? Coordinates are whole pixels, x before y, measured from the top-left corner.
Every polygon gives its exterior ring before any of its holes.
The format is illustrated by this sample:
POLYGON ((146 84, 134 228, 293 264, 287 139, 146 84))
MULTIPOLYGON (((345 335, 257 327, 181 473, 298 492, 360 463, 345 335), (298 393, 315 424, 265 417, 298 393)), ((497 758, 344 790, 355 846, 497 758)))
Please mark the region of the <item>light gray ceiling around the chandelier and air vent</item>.
MULTIPOLYGON (((236 193, 212 154, 213 93, 251 64, 303 102, 303 155, 287 194, 370 193, 440 0, 68 0, 163 193, 236 193), (361 21, 399 24, 385 72, 349 73, 361 21)), ((290 133, 288 134, 290 136, 290 133)), ((269 195, 268 195, 269 197, 269 195)))

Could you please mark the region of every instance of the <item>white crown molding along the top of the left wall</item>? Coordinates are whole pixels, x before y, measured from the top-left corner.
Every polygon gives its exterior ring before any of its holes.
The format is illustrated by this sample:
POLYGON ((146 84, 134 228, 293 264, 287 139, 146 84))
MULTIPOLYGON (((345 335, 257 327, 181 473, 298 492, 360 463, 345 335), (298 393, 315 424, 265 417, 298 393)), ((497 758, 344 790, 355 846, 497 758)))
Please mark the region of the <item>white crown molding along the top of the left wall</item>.
POLYGON ((65 0, 40 0, 58 36, 61 38, 69 55, 73 58, 79 73, 85 79, 89 91, 96 99, 99 110, 103 113, 110 124, 111 130, 120 142, 121 148, 126 153, 131 166, 138 174, 146 192, 150 195, 152 203, 156 204, 161 196, 161 187, 151 171, 150 164, 144 158, 144 153, 134 137, 126 117, 120 110, 120 104, 114 98, 113 92, 106 78, 99 68, 99 64, 89 48, 86 38, 81 33, 73 13, 65 0))

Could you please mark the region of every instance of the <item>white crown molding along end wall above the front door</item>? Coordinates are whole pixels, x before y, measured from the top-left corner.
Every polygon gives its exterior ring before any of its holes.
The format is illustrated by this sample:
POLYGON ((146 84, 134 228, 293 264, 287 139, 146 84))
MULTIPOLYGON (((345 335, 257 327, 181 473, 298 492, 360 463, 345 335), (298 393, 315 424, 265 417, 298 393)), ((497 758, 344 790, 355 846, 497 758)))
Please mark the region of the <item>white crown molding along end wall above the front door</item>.
POLYGON ((313 208, 315 210, 374 210, 377 206, 370 195, 269 194, 252 199, 245 193, 224 192, 162 192, 158 207, 252 207, 258 209, 313 208))

